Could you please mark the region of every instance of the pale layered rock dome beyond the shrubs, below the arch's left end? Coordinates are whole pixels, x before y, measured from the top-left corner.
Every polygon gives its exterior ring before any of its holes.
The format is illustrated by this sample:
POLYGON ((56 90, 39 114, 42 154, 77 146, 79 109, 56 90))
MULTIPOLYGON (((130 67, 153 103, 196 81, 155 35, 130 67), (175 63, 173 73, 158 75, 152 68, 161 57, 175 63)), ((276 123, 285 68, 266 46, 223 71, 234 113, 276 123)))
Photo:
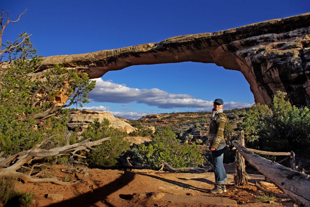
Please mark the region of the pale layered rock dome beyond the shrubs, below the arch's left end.
POLYGON ((84 131, 95 119, 99 119, 99 122, 101 123, 104 118, 110 121, 110 127, 120 129, 122 132, 126 132, 127 134, 137 130, 137 128, 132 127, 130 124, 114 117, 113 114, 91 110, 70 112, 67 127, 71 130, 75 130, 79 127, 82 131, 84 131))

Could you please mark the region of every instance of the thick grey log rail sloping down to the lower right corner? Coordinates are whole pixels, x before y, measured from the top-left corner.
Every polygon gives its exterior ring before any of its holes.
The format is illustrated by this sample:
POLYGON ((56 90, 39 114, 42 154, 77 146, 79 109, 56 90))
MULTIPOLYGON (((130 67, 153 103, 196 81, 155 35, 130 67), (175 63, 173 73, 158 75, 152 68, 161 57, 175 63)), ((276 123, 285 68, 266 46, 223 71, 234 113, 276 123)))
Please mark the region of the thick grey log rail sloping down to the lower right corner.
POLYGON ((297 205, 310 206, 310 191, 308 190, 310 178, 306 174, 255 155, 236 140, 233 140, 232 144, 250 165, 275 184, 297 205))

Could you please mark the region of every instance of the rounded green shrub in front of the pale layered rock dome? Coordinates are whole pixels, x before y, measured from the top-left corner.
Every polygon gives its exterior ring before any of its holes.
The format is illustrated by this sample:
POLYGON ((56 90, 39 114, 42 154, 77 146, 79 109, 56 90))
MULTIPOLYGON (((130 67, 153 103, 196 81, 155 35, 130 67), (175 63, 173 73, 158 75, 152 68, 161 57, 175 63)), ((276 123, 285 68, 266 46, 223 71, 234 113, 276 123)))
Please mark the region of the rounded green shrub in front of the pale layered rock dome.
POLYGON ((91 151, 86 154, 86 162, 103 165, 113 166, 116 164, 117 159, 121 157, 127 150, 130 149, 130 141, 126 139, 126 133, 121 132, 119 129, 109 127, 110 121, 103 119, 95 119, 85 132, 83 132, 83 139, 92 138, 92 140, 100 140, 102 138, 110 137, 111 141, 104 141, 102 144, 96 146, 98 150, 91 151))

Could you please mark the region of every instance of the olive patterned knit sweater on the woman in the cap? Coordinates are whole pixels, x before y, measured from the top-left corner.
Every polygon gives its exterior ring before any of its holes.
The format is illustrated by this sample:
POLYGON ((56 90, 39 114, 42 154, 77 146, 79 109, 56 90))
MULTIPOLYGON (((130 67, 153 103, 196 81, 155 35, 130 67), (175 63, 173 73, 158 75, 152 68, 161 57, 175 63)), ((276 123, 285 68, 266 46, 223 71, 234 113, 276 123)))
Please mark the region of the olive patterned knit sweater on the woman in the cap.
POLYGON ((222 109, 213 111, 208 130, 208 143, 210 143, 211 147, 217 149, 219 143, 225 142, 224 128, 227 123, 228 118, 223 113, 222 109))

